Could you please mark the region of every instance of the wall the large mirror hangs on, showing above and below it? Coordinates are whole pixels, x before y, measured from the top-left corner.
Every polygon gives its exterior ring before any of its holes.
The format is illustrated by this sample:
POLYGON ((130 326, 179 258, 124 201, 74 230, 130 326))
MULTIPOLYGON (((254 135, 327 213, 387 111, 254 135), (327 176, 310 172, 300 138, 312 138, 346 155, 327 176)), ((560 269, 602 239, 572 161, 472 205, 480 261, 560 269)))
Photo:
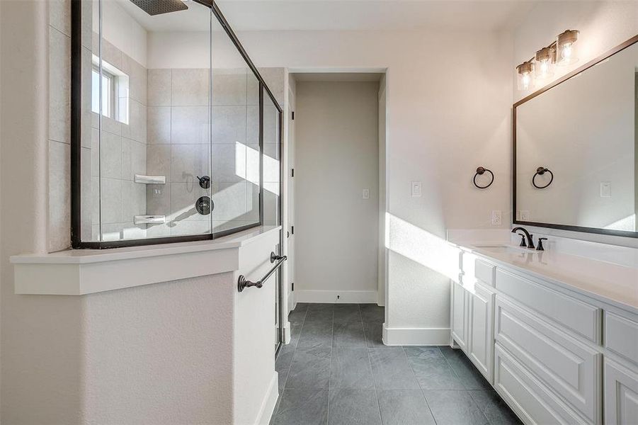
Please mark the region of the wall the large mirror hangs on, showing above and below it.
MULTIPOLYGON (((568 67, 557 67, 550 81, 559 79, 636 35, 638 33, 638 2, 551 1, 540 2, 532 8, 525 20, 518 23, 513 32, 513 61, 510 69, 514 102, 532 91, 517 89, 516 65, 528 60, 537 50, 549 45, 559 33, 568 28, 581 31, 578 41, 579 61, 568 67)), ((533 230, 536 233, 548 234, 550 237, 568 237, 638 247, 638 239, 635 238, 607 237, 558 229, 534 228, 533 230)))

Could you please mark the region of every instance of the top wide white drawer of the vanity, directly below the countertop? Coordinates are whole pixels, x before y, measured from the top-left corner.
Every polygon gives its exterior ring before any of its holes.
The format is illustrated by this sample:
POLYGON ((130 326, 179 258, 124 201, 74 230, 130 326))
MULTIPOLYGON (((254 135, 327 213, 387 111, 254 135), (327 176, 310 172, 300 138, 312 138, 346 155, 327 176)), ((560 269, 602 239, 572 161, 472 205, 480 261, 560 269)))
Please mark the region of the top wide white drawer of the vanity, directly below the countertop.
POLYGON ((531 280, 496 269, 496 289, 545 314, 561 326, 600 344, 602 311, 531 280))

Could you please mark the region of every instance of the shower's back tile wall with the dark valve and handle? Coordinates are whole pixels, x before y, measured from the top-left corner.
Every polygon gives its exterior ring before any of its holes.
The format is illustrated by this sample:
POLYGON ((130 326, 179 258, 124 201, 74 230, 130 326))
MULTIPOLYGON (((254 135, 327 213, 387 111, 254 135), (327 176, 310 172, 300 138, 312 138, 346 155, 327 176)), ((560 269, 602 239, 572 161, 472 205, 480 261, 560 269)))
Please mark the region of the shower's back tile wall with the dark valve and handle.
POLYGON ((149 69, 148 173, 167 184, 149 185, 147 210, 171 220, 149 225, 148 237, 210 232, 210 216, 194 208, 205 195, 215 232, 258 222, 258 91, 249 78, 244 69, 213 71, 209 146, 209 70, 149 69), (209 172, 206 191, 197 176, 209 172))

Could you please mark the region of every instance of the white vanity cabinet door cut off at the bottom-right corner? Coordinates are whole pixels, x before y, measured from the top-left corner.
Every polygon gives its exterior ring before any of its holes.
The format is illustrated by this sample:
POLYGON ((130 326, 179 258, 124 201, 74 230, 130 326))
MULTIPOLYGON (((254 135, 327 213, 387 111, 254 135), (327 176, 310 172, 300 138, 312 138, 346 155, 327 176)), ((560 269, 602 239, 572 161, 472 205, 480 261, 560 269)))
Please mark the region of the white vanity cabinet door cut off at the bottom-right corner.
POLYGON ((605 358, 605 424, 638 422, 638 374, 605 358))

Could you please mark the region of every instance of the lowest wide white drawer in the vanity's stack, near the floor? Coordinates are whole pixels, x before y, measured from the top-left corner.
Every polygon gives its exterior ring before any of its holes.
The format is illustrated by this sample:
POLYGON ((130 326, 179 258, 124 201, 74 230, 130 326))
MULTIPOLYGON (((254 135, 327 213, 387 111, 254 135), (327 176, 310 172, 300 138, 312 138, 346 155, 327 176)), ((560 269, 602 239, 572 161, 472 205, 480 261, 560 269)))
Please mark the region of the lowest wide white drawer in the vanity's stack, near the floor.
POLYGON ((499 344, 494 355, 494 388, 525 424, 587 423, 499 344))

